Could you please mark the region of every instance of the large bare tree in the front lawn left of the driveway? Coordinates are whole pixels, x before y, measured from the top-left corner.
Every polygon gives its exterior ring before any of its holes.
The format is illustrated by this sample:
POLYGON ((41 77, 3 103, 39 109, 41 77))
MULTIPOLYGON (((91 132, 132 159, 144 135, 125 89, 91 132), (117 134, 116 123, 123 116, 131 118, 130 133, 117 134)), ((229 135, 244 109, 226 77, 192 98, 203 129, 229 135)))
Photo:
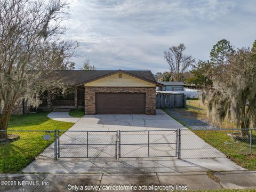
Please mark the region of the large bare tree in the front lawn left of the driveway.
MULTIPOLYGON (((41 76, 44 69, 58 68, 53 58, 60 49, 53 47, 62 47, 63 54, 67 49, 60 40, 66 8, 62 0, 0 1, 0 130, 7 130, 15 104, 25 99, 36 107, 40 94, 58 84, 41 76)), ((0 134, 6 137, 6 132, 0 134)))

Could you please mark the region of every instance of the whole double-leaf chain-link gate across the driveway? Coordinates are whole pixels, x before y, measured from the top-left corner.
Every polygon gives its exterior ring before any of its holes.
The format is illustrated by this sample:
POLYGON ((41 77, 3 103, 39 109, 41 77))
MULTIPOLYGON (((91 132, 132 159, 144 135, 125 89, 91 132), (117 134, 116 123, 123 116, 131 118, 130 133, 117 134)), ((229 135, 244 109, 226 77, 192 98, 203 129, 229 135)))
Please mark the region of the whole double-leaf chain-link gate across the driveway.
POLYGON ((180 130, 60 131, 55 139, 57 158, 179 157, 180 130))

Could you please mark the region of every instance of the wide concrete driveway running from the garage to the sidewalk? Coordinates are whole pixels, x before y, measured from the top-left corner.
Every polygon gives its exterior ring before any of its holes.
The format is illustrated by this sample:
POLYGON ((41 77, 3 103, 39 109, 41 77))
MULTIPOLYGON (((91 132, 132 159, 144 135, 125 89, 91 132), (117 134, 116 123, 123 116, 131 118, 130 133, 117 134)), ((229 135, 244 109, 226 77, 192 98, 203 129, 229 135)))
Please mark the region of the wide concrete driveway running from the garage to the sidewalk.
MULTIPOLYGON (((57 114, 55 114, 55 118, 57 114)), ((51 114, 54 119, 54 114, 51 114)), ((65 118, 62 118, 65 120, 65 118)), ((77 123, 61 135, 60 140, 64 143, 86 142, 86 132, 77 131, 106 131, 99 137, 97 134, 90 136, 94 143, 112 143, 115 142, 115 136, 108 133, 108 131, 141 131, 133 132, 132 137, 127 137, 126 141, 132 143, 145 143, 147 135, 145 130, 170 130, 170 134, 161 132, 161 138, 165 142, 175 141, 175 130, 183 129, 181 135, 181 158, 177 157, 150 157, 150 158, 122 158, 116 159, 97 159, 97 158, 59 158, 54 161, 54 145, 46 148, 36 160, 28 165, 23 172, 26 173, 170 173, 170 172, 200 172, 200 171, 237 171, 244 170, 242 167, 236 165, 230 159, 226 158, 217 149, 208 145, 202 139, 197 137, 193 132, 175 121, 169 115, 165 114, 161 109, 156 110, 155 116, 147 115, 92 115, 84 116, 79 119, 77 123), (74 131, 74 132, 73 132, 74 131), (183 151, 183 152, 182 152, 183 151)), ((159 140, 159 135, 150 136, 150 140, 159 140)), ((143 147, 143 145, 141 145, 143 147)), ((148 147, 141 148, 141 146, 134 148, 124 148, 123 154, 132 151, 132 156, 141 157, 141 154, 148 151, 148 147)), ((70 154, 71 156, 86 155, 84 154, 86 146, 63 146, 60 153, 70 154)), ((96 150, 90 150, 90 156, 100 156, 102 154, 115 154, 115 147, 102 147, 96 150), (99 150, 100 149, 100 150, 99 150), (99 151, 101 151, 99 153, 99 151)), ((175 145, 165 145, 162 147, 150 146, 150 154, 173 154, 175 145)), ((175 153, 174 153, 175 154, 175 153)), ((145 156, 145 155, 142 155, 145 156)), ((104 157, 104 156, 101 156, 104 157)))

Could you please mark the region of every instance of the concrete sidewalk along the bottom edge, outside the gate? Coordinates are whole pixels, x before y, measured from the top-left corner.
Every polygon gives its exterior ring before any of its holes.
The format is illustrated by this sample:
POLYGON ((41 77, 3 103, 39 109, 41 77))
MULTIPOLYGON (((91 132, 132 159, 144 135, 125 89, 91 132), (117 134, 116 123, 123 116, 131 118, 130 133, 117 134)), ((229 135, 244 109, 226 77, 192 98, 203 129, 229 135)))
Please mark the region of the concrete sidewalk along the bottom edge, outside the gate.
MULTIPOLYGON (((255 189, 255 171, 217 172, 211 178, 206 172, 189 173, 151 173, 151 174, 124 174, 124 173, 98 173, 98 174, 1 174, 1 181, 34 181, 39 185, 1 186, 0 191, 142 191, 142 190, 113 190, 113 185, 152 186, 152 191, 159 191, 157 186, 172 185, 186 187, 187 190, 202 189, 255 189), (214 178, 215 177, 215 178, 214 178), (214 180, 212 179, 214 178, 214 180), (78 190, 68 190, 69 187, 78 187, 78 190), (97 185, 100 189, 81 190, 81 186, 97 185), (104 185, 110 185, 109 190, 103 190, 104 185)), ((181 189, 181 188, 180 188, 181 189)), ((143 190, 143 191, 150 191, 143 190)), ((161 190, 163 191, 163 190, 161 190)), ((165 191, 171 191, 165 190, 165 191)))

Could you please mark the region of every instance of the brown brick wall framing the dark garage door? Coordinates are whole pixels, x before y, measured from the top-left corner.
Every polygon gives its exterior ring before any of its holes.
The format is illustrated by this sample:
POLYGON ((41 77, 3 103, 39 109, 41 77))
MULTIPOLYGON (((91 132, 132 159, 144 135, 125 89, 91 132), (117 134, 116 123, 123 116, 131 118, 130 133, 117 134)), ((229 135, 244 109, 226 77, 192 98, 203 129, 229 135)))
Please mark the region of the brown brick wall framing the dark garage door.
POLYGON ((146 115, 156 114, 156 87, 85 87, 85 115, 95 115, 95 93, 146 93, 146 115))

